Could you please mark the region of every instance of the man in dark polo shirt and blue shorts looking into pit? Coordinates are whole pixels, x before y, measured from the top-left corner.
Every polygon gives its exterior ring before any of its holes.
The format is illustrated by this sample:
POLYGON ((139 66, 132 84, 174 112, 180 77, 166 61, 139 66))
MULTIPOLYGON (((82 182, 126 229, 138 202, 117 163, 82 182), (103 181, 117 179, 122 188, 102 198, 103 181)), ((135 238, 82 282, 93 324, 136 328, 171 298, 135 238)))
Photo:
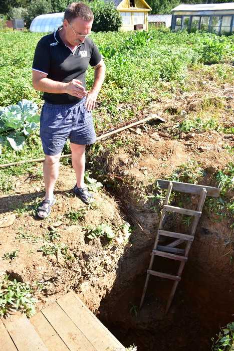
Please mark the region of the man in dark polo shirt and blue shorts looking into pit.
POLYGON ((73 191, 86 204, 93 200, 84 184, 85 146, 96 141, 91 111, 105 77, 105 64, 88 37, 93 19, 88 6, 72 3, 65 10, 63 26, 43 37, 35 50, 33 86, 44 92, 45 100, 40 136, 45 153, 46 195, 37 211, 40 218, 48 217, 55 204, 59 158, 67 138, 76 172, 73 191), (94 83, 86 91, 85 73, 89 64, 94 68, 94 83))

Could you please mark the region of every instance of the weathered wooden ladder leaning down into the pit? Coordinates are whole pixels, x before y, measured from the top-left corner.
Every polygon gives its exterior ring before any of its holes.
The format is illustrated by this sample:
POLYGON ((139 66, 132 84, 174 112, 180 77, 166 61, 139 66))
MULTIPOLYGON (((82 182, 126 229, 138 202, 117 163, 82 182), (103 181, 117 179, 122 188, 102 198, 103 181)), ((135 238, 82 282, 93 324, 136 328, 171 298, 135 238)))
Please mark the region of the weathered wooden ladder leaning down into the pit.
POLYGON ((170 308, 172 299, 174 297, 177 285, 178 285, 179 281, 181 280, 181 274, 183 272, 185 263, 187 262, 187 259, 188 259, 188 253, 189 253, 189 250, 191 248, 192 242, 194 240, 196 227, 197 227, 197 224, 199 222, 199 218, 200 218, 201 213, 202 213, 202 209, 203 209, 206 195, 218 197, 220 194, 220 189, 213 188, 213 187, 194 185, 194 184, 188 184, 188 183, 169 182, 169 181, 163 181, 163 180, 157 180, 157 182, 161 188, 163 188, 163 189, 167 188, 167 193, 166 193, 166 198, 164 200, 164 205, 163 205, 163 209, 162 209, 162 213, 161 213, 161 218, 159 221, 158 231, 157 231, 157 235, 155 238, 155 242, 154 242, 154 246, 153 246, 153 250, 152 250, 152 254, 151 254, 149 268, 147 270, 147 276, 146 276, 146 281, 145 281, 145 285, 144 285, 144 289, 143 289, 143 293, 142 293, 142 297, 141 297, 140 308, 142 307, 142 304, 144 302, 145 293, 146 293, 146 289, 147 289, 148 282, 149 282, 149 276, 155 275, 157 277, 174 280, 173 287, 171 289, 171 292, 170 292, 170 295, 169 295, 169 298, 167 301, 167 306, 166 306, 166 313, 167 313, 169 308, 170 308), (200 198, 199 198, 199 202, 198 202, 196 211, 183 209, 180 207, 169 206, 168 203, 169 203, 169 198, 170 198, 172 188, 173 188, 173 191, 179 191, 179 192, 190 193, 190 194, 199 194, 200 198), (175 232, 169 232, 169 231, 163 230, 163 228, 162 228, 163 220, 164 220, 166 213, 168 211, 194 217, 193 223, 191 226, 190 234, 175 233, 175 232), (160 235, 162 235, 164 237, 175 238, 176 240, 168 245, 165 245, 165 246, 158 245, 160 235), (185 249, 176 248, 176 246, 180 245, 183 242, 186 242, 185 249), (152 270, 155 256, 161 256, 161 257, 169 258, 172 260, 180 261, 180 265, 179 265, 177 274, 171 275, 171 274, 157 272, 157 271, 152 270))

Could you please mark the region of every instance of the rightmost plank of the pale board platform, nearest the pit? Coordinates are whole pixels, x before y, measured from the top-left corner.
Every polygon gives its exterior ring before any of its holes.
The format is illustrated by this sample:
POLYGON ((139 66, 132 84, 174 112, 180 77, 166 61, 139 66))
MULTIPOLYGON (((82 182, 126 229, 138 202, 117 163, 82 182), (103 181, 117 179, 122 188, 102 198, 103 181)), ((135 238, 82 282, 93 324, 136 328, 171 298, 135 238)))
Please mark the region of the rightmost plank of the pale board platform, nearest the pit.
POLYGON ((67 293, 59 298, 57 303, 82 333, 86 335, 95 349, 98 351, 125 350, 125 347, 110 333, 75 293, 67 293))

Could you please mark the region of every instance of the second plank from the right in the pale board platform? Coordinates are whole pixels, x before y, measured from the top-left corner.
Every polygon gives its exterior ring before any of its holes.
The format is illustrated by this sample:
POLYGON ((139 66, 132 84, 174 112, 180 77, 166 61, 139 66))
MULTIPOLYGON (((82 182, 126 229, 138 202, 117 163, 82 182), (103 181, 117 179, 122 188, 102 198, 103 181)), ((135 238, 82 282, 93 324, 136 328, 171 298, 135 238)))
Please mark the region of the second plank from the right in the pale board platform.
POLYGON ((72 351, 96 351, 87 337, 74 324, 71 318, 63 311, 57 302, 41 311, 61 339, 72 351))

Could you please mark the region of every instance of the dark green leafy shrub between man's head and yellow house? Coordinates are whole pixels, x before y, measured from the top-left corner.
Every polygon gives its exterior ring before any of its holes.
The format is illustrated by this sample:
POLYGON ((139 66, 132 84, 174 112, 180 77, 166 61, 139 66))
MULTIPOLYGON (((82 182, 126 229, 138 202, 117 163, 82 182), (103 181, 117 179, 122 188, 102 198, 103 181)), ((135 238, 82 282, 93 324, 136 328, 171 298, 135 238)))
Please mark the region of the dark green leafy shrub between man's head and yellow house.
POLYGON ((122 25, 119 12, 115 9, 114 3, 104 3, 102 0, 94 0, 90 3, 94 14, 94 32, 118 32, 122 25))

